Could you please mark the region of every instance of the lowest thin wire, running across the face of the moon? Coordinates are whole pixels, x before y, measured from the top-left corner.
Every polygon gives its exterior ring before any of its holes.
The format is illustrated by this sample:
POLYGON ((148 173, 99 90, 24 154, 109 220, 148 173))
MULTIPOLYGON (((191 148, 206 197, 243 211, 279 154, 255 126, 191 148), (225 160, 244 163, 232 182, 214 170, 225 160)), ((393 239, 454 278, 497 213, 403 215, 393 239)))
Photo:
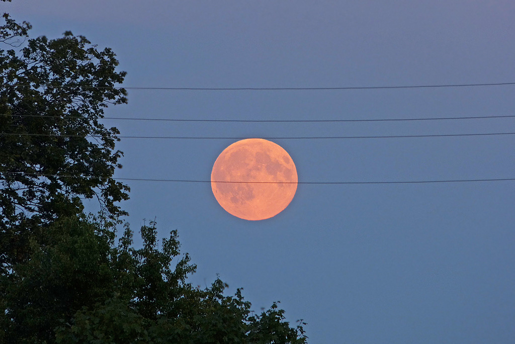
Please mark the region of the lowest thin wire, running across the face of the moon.
MULTIPOLYGON (((80 176, 60 176, 23 172, 1 172, 7 174, 23 174, 38 177, 61 177, 61 178, 87 178, 80 176)), ((100 178, 108 179, 108 178, 100 178)), ((515 178, 499 179, 455 179, 455 180, 416 180, 416 181, 386 181, 386 182, 246 182, 246 181, 211 181, 194 179, 147 179, 147 178, 114 178, 116 180, 150 181, 150 182, 179 182, 179 183, 247 183, 247 184, 426 184, 426 183, 459 183, 459 182, 492 182, 492 181, 513 181, 515 178)))

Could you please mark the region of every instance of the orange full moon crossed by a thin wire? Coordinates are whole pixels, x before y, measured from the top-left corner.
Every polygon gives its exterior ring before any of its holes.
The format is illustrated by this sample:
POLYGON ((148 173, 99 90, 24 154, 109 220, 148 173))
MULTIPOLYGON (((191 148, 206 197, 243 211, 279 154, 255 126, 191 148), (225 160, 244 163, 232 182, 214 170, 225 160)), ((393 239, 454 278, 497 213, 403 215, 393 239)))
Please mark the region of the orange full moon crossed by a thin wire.
POLYGON ((228 213, 264 220, 282 212, 297 191, 297 169, 288 152, 264 139, 245 139, 220 153, 211 188, 228 213))

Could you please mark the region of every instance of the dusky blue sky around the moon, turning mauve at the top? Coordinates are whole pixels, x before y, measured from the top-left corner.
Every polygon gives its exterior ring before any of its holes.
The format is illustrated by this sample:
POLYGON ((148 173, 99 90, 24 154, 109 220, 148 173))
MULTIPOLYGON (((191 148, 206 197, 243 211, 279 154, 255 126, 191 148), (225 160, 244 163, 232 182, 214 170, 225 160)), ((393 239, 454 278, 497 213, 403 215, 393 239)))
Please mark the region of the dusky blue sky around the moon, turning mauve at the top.
MULTIPOLYGON (((514 82, 505 1, 16 1, 32 35, 112 47, 127 87, 353 87, 514 82)), ((375 119, 513 115, 515 86, 347 91, 143 91, 112 117, 375 119)), ((513 132, 515 119, 302 123, 110 121, 122 135, 373 136, 513 132)), ((119 178, 209 180, 234 140, 125 139, 119 178)), ((515 138, 276 140, 299 181, 513 178, 515 138)), ((515 336, 513 181, 300 184, 278 216, 226 213, 207 183, 133 181, 138 230, 178 229, 204 285, 280 300, 311 343, 508 343, 515 336)), ((136 242, 139 245, 140 242, 136 242)))

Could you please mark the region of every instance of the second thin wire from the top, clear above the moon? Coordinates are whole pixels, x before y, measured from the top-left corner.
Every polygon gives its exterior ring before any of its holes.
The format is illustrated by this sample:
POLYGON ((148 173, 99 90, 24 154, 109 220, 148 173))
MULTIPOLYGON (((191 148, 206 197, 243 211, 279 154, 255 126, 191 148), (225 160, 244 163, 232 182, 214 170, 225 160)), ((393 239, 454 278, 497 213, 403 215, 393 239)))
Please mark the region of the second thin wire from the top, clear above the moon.
MULTIPOLYGON (((11 116, 11 114, 0 114, 11 116)), ((81 116, 48 116, 48 115, 20 115, 19 117, 49 117, 56 119, 83 118, 81 116)), ((513 118, 506 116, 469 116, 469 117, 433 117, 433 118, 384 118, 384 119, 179 119, 179 118, 130 118, 130 117, 102 117, 99 119, 116 119, 119 121, 165 121, 165 122, 238 122, 238 123, 323 123, 323 122, 393 122, 393 121, 438 121, 445 119, 479 119, 479 118, 513 118)))

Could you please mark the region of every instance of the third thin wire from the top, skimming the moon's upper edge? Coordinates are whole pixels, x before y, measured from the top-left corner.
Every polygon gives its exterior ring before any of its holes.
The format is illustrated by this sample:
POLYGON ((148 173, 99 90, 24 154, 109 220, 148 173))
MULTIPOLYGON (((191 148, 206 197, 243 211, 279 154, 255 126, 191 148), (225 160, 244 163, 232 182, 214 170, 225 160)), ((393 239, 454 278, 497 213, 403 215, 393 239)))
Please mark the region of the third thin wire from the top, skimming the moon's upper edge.
MULTIPOLYGON (((16 134, 0 133, 9 136, 60 136, 60 137, 97 137, 99 135, 60 135, 60 134, 16 134)), ((452 136, 493 136, 515 135, 515 132, 477 133, 477 134, 434 134, 434 135, 388 135, 388 136, 296 136, 296 137, 260 137, 265 140, 322 140, 322 139, 394 139, 405 137, 452 137, 452 136)), ((170 140, 244 140, 249 137, 215 137, 215 136, 117 136, 120 139, 170 139, 170 140)))

